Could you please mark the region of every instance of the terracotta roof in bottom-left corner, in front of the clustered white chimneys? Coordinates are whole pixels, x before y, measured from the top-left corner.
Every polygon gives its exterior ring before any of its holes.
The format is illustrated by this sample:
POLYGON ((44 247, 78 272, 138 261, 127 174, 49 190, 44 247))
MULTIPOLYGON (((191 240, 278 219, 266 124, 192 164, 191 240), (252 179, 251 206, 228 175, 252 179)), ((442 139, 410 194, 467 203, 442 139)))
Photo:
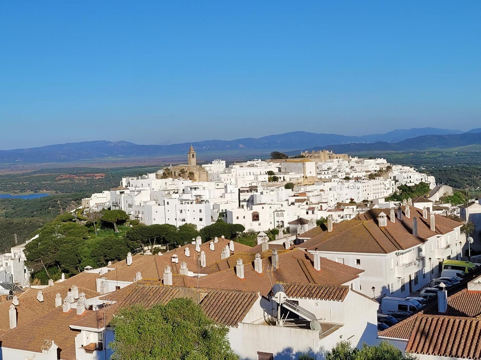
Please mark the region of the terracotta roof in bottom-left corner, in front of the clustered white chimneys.
MULTIPOLYGON (((86 310, 80 316, 87 316, 89 313, 91 311, 86 310)), ((60 359, 76 360, 75 336, 78 331, 72 331, 69 324, 75 321, 77 316, 80 317, 74 309, 69 312, 62 312, 62 307, 53 309, 1 335, 1 347, 41 353, 42 348, 46 347, 45 342, 53 340, 60 349, 60 359)))

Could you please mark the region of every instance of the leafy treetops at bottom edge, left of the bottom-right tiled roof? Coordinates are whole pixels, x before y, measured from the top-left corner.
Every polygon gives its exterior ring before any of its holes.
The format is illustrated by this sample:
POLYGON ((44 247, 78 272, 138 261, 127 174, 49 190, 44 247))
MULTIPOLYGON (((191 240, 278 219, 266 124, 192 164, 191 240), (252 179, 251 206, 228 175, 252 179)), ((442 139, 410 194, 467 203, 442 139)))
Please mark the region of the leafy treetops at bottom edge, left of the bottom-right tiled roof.
POLYGON ((354 348, 349 341, 341 341, 326 353, 326 360, 414 360, 417 357, 406 354, 387 341, 378 345, 363 344, 361 349, 354 348))

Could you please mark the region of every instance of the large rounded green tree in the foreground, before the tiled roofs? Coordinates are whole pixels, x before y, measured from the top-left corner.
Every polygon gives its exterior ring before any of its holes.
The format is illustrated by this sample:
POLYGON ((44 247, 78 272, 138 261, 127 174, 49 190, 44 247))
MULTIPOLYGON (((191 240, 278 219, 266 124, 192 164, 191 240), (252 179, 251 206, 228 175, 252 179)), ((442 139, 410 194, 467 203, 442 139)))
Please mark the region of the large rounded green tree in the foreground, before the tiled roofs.
POLYGON ((173 299, 150 309, 120 310, 112 319, 116 360, 237 360, 228 327, 209 319, 190 299, 173 299))

